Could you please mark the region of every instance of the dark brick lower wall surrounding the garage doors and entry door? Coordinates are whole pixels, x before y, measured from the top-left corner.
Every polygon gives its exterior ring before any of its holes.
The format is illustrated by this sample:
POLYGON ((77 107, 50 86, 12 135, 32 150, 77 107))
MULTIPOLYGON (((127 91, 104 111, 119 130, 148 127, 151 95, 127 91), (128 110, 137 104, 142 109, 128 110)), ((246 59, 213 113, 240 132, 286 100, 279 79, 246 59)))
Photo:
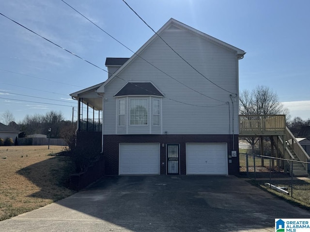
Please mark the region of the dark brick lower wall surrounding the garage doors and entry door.
POLYGON ((104 135, 104 157, 107 175, 118 175, 119 173, 119 144, 120 143, 160 143, 160 174, 165 175, 166 166, 166 144, 180 144, 180 174, 186 174, 186 143, 227 143, 228 174, 239 174, 239 147, 238 135, 234 135, 234 150, 237 157, 229 158, 233 150, 232 135, 197 134, 197 135, 104 135), (162 147, 162 144, 165 147, 162 147), (164 164, 162 164, 164 162, 164 164))

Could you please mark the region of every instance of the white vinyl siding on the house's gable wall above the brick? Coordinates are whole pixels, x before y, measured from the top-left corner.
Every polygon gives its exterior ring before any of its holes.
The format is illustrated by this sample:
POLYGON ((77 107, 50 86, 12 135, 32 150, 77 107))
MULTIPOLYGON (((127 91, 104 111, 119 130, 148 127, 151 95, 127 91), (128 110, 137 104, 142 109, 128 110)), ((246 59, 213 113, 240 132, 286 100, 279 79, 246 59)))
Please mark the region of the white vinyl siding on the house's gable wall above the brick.
MULTIPOLYGON (((161 36, 206 78, 220 87, 237 93, 236 52, 187 31, 164 32, 161 36)), ((226 102, 231 102, 230 93, 216 87, 190 68, 175 53, 167 49, 160 39, 155 39, 149 44, 140 56, 186 86, 218 100, 194 92, 137 57, 118 73, 118 76, 128 81, 151 81, 167 97, 160 101, 162 109, 160 127, 153 125, 153 112, 149 112, 148 123, 152 126, 151 133, 167 131, 168 134, 229 134, 232 133, 234 112, 234 132, 238 134, 238 102, 234 104, 234 111, 232 104, 229 108, 226 102)), ((123 80, 115 78, 105 87, 105 98, 109 100, 105 101, 104 134, 115 134, 117 110, 116 99, 113 96, 125 84, 123 80)), ((149 104, 153 104, 153 101, 149 104)), ((153 110, 153 106, 151 109, 153 110)), ((149 134, 150 128, 129 125, 126 133, 149 134)))

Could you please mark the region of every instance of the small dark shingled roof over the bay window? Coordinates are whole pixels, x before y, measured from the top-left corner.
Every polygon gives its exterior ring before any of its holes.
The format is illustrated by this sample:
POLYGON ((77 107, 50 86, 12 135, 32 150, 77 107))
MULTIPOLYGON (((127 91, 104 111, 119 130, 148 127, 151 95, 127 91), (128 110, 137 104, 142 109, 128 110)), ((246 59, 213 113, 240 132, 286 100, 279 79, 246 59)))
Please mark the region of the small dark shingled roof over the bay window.
POLYGON ((128 95, 164 96, 151 82, 128 82, 114 97, 128 95))

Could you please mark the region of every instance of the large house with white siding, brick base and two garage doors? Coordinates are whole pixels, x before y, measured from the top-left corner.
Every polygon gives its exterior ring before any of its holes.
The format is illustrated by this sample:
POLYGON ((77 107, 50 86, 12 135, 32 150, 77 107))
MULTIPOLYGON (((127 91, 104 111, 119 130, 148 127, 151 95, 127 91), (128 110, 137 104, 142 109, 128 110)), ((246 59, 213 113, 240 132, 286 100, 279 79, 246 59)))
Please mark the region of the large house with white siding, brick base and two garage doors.
POLYGON ((77 145, 101 143, 108 175, 238 174, 245 52, 174 19, 157 33, 202 74, 156 34, 131 58, 107 58, 107 81, 71 94, 77 145))

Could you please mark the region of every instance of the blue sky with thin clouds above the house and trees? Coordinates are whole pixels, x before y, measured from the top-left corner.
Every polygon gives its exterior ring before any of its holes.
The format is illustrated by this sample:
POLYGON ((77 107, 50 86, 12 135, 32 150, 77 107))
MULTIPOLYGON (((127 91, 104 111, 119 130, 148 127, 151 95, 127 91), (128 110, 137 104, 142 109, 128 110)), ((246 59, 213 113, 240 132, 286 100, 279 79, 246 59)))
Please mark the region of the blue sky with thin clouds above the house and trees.
MULTIPOLYGON (((122 0, 65 1, 133 51, 153 35, 122 0)), ((155 31, 172 17, 245 50, 240 90, 266 85, 292 118, 310 118, 309 0, 126 1, 155 31)), ((0 13, 105 70, 107 57, 132 56, 61 0, 3 0, 0 13)), ((9 110, 17 122, 50 110, 71 120, 77 102, 68 94, 107 79, 106 72, 2 15, 0 29, 0 113, 9 110)))

